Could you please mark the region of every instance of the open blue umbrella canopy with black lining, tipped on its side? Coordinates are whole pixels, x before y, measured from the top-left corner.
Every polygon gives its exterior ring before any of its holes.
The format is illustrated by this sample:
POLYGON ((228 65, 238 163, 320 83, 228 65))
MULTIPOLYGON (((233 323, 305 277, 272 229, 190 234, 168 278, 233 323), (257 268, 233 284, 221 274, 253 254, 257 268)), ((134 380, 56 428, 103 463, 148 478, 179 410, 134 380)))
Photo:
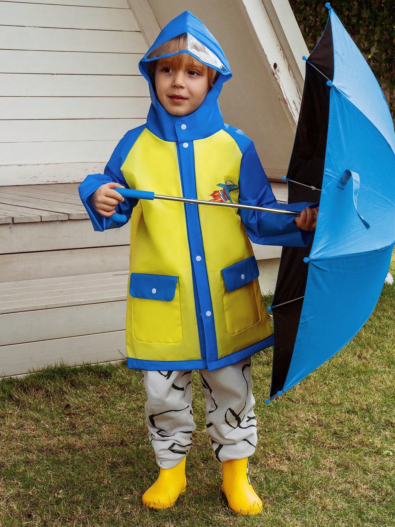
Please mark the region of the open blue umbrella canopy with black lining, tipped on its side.
POLYGON ((370 67, 329 3, 306 60, 288 203, 320 202, 306 249, 282 250, 271 311, 270 399, 358 333, 380 296, 395 241, 395 134, 370 67))

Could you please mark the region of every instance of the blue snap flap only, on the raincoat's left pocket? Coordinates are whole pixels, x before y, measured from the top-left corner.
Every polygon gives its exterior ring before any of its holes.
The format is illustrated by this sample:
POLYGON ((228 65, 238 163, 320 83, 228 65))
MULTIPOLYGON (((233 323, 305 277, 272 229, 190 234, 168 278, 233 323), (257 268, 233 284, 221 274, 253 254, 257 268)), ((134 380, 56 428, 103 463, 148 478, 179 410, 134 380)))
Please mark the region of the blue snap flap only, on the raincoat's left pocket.
POLYGON ((152 300, 173 300, 176 294, 177 280, 178 276, 144 275, 143 273, 132 272, 129 295, 152 300))

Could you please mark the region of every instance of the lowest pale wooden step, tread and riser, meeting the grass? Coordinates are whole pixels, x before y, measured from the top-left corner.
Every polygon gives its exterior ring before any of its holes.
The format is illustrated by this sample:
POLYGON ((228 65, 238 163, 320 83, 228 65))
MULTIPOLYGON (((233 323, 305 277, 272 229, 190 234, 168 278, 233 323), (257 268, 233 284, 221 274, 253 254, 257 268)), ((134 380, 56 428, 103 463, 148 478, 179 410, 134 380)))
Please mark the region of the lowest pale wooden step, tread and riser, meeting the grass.
POLYGON ((0 283, 0 376, 124 358, 128 273, 0 283))

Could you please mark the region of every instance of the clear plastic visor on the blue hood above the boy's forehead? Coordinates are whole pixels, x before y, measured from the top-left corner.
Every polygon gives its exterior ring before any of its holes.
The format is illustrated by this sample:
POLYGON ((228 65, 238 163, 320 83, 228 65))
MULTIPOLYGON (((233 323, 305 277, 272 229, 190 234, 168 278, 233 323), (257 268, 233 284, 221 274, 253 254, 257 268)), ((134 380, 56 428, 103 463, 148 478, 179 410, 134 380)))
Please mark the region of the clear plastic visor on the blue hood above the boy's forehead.
POLYGON ((224 64, 222 64, 217 55, 209 50, 207 46, 199 42, 196 37, 190 33, 181 33, 178 37, 180 38, 180 42, 182 42, 182 49, 175 50, 174 43, 170 42, 170 40, 173 39, 170 39, 167 42, 160 44, 154 50, 146 53, 141 60, 144 62, 150 62, 162 57, 169 57, 180 53, 189 53, 207 66, 212 67, 221 73, 229 73, 229 70, 224 64), (164 53, 166 49, 169 50, 168 53, 164 53))

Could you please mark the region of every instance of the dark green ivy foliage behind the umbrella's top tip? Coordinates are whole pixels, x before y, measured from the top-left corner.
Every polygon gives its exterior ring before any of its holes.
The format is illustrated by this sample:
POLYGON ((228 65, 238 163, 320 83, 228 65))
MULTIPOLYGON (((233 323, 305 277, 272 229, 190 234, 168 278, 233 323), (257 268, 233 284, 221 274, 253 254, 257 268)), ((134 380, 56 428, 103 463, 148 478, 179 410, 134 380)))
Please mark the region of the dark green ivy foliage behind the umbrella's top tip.
MULTIPOLYGON (((328 19, 326 0, 290 0, 309 52, 328 19)), ((395 0, 333 0, 330 5, 366 58, 395 122, 395 0)))

